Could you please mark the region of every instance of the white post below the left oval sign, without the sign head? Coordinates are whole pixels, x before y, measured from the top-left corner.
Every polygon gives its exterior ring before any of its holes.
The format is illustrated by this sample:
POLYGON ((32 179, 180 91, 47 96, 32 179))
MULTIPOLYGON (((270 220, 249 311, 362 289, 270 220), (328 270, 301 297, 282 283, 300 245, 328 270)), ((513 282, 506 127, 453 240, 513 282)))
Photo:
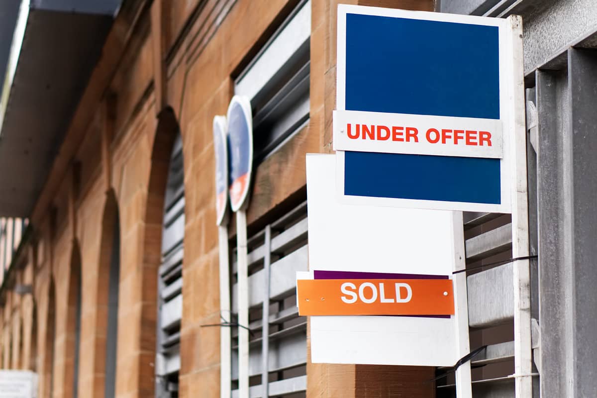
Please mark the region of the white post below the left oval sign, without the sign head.
MULTIPOLYGON (((220 248, 220 314, 221 321, 225 319, 232 322, 232 311, 230 311, 230 264, 228 249, 228 227, 218 227, 218 240, 220 248)), ((230 327, 220 328, 220 397, 230 398, 231 391, 231 342, 230 327)))

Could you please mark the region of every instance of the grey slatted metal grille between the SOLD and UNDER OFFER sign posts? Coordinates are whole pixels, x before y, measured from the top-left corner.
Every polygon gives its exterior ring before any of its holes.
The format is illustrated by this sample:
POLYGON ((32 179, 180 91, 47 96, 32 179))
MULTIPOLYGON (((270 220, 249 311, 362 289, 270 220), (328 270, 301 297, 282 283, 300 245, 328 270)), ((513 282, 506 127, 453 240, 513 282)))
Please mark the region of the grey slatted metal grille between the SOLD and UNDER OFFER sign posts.
MULTIPOLYGON (((509 214, 464 212, 470 349, 487 345, 471 362, 473 396, 513 397, 514 294, 509 214)), ((445 369, 438 369, 438 375, 445 369)), ((437 396, 456 397, 452 374, 437 396)))

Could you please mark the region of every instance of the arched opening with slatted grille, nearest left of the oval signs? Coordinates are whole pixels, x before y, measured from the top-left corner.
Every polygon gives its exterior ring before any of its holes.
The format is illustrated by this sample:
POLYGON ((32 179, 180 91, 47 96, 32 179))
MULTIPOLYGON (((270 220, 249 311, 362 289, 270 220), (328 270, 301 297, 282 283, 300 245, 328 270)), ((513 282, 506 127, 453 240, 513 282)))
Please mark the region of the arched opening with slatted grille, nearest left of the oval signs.
POLYGON ((181 137, 170 158, 162 231, 162 265, 158 277, 156 396, 177 397, 180 371, 180 319, 184 237, 184 183, 181 137))

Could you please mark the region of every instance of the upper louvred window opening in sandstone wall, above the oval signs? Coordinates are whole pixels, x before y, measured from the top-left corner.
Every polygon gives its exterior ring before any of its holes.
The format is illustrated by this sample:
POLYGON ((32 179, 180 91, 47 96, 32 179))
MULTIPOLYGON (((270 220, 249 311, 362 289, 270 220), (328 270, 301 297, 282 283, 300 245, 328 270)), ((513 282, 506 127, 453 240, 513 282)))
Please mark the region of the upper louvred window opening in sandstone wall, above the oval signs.
POLYGON ((309 119, 311 2, 301 1, 235 82, 253 108, 260 162, 309 119))

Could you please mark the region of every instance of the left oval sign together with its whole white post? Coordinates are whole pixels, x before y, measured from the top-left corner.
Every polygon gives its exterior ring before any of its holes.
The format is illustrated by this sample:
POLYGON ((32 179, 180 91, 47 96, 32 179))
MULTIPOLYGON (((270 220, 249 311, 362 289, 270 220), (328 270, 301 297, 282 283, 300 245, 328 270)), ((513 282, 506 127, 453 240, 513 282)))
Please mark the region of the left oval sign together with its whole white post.
MULTIPOLYGON (((216 222, 220 254, 220 320, 232 322, 230 311, 230 263, 228 248, 228 140, 226 116, 214 117, 214 151, 216 152, 216 222)), ((230 328, 220 328, 220 397, 230 398, 232 358, 230 328)))

